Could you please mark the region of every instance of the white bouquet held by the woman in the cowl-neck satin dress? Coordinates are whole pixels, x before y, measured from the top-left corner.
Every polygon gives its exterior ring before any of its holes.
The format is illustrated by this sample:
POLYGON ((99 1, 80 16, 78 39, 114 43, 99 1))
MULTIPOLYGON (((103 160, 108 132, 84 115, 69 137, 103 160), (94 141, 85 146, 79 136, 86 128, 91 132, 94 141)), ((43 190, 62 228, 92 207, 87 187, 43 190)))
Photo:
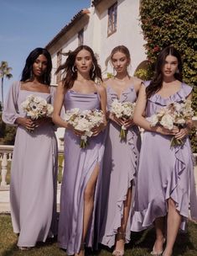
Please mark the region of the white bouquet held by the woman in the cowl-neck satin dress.
POLYGON ((101 110, 80 110, 78 108, 70 109, 65 112, 65 121, 72 125, 75 130, 84 131, 80 136, 80 147, 87 146, 87 137, 91 137, 92 128, 104 123, 104 115, 101 110))

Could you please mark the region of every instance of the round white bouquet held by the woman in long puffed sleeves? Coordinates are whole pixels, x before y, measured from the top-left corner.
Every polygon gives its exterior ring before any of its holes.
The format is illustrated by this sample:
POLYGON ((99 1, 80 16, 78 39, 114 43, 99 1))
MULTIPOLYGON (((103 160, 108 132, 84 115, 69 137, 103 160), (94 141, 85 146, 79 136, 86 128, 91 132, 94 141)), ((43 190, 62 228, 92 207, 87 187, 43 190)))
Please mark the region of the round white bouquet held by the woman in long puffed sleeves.
POLYGON ((50 116, 54 108, 51 104, 39 96, 29 95, 25 101, 21 104, 23 111, 32 120, 37 120, 44 116, 50 116))

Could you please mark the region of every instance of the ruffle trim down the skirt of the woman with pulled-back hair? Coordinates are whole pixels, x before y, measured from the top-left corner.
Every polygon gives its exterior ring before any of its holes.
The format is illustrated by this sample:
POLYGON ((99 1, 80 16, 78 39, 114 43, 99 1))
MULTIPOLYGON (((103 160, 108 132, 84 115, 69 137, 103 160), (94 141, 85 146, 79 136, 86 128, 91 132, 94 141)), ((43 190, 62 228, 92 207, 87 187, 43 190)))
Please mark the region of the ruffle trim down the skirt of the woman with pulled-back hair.
MULTIPOLYGON (((107 234, 105 234, 105 236, 101 238, 101 243, 105 244, 110 248, 115 244, 117 229, 121 227, 123 210, 124 210, 124 201, 127 200, 127 191, 129 188, 131 188, 132 181, 134 182, 136 178, 136 172, 137 172, 137 148, 135 147, 135 144, 134 144, 134 141, 137 141, 137 135, 135 134, 134 131, 130 130, 127 133, 127 141, 128 141, 128 145, 130 146, 131 152, 133 152, 133 154, 131 153, 131 168, 134 170, 134 172, 128 172, 127 184, 125 184, 125 186, 122 187, 119 200, 117 200, 116 216, 114 217, 114 222, 112 224, 111 232, 108 232, 107 234)), ((130 242, 131 211, 132 209, 130 210, 130 214, 128 216, 125 243, 130 242)))

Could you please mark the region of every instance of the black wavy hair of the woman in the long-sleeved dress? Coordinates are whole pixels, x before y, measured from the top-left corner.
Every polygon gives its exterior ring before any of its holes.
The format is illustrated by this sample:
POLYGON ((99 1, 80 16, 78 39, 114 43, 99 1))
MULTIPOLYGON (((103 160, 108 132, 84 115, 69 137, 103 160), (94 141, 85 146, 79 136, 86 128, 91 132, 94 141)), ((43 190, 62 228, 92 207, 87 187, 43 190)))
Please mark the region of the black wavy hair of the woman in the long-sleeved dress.
POLYGON ((25 66, 23 68, 21 80, 22 82, 26 82, 27 80, 32 81, 34 79, 33 74, 33 64, 34 61, 38 58, 39 55, 43 54, 47 59, 47 68, 46 72, 44 72, 43 76, 41 77, 42 83, 49 85, 50 84, 50 72, 52 69, 52 61, 49 51, 45 48, 35 48, 33 51, 29 53, 29 56, 26 59, 25 66))

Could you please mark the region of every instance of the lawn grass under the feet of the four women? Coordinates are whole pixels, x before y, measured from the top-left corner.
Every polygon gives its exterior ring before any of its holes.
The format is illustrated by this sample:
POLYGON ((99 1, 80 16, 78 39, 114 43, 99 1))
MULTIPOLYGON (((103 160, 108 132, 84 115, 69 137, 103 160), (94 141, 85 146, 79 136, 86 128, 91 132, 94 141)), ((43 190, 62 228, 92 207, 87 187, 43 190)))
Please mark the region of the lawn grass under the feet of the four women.
MULTIPOLYGON (((30 220, 29 220, 30 221, 30 220)), ((179 233, 174 246, 174 256, 197 256, 197 224, 189 221, 187 233, 179 233)), ((8 214, 0 215, 0 255, 1 256, 61 256, 66 255, 60 250, 56 240, 38 243, 30 251, 19 251, 17 236, 13 233, 11 218, 8 214)), ((154 231, 132 232, 132 241, 127 244, 125 256, 148 256, 154 243, 154 231)), ((86 255, 110 256, 112 249, 100 247, 98 251, 86 250, 86 255)))

